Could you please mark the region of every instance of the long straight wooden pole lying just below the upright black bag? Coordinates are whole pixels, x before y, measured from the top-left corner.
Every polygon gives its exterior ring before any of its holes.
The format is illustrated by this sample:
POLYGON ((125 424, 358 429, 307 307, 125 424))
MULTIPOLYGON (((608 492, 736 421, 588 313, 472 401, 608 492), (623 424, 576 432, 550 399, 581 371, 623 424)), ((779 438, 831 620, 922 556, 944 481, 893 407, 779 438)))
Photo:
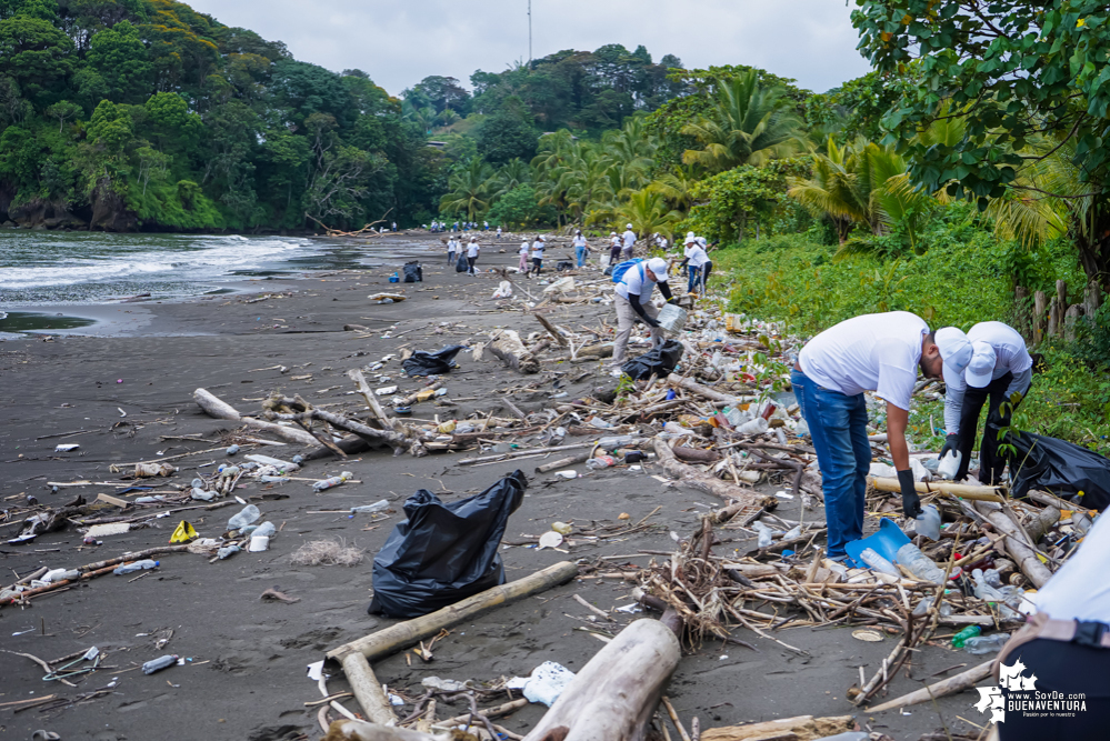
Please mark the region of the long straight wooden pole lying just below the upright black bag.
POLYGON ((430 614, 396 623, 377 633, 344 643, 328 651, 327 655, 329 659, 341 660, 348 653, 357 652, 373 661, 436 635, 444 628, 469 620, 480 612, 542 592, 577 575, 577 565, 570 561, 560 561, 523 579, 487 589, 430 614))

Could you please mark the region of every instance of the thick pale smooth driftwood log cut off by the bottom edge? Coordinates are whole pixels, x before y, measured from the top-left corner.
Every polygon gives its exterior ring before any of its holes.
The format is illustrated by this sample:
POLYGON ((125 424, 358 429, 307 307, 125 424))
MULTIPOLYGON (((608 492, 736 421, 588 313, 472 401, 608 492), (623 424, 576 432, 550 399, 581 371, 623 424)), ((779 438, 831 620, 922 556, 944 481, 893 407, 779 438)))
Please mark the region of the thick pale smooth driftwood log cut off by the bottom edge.
POLYGON ((640 741, 682 655, 674 632, 637 620, 590 659, 524 741, 640 741))

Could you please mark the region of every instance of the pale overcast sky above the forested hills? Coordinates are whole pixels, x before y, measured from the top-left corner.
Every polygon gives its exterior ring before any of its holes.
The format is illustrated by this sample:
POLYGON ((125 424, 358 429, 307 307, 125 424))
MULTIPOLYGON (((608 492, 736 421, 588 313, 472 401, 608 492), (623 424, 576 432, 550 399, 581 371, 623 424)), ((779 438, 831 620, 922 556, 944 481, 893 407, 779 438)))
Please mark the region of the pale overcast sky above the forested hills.
MULTIPOLYGON (((392 94, 429 74, 500 72, 528 58, 528 0, 187 0, 392 94)), ((532 0, 532 56, 607 43, 687 68, 751 64, 823 92, 869 70, 841 0, 532 0)))

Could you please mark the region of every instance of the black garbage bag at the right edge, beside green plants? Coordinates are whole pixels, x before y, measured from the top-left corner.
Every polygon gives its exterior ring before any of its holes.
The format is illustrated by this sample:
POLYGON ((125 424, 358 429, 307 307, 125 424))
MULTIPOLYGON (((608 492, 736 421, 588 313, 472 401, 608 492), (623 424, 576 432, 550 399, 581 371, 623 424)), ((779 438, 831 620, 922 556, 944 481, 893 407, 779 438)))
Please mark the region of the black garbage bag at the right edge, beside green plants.
POLYGON ((1014 497, 1041 489, 1100 512, 1110 504, 1110 460, 1087 448, 1032 432, 1011 431, 1003 442, 1014 448, 1009 460, 1013 479, 1010 492, 1014 497), (1082 499, 1076 498, 1079 492, 1083 492, 1082 499))

